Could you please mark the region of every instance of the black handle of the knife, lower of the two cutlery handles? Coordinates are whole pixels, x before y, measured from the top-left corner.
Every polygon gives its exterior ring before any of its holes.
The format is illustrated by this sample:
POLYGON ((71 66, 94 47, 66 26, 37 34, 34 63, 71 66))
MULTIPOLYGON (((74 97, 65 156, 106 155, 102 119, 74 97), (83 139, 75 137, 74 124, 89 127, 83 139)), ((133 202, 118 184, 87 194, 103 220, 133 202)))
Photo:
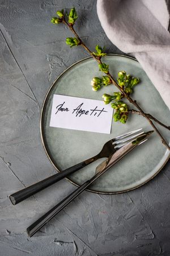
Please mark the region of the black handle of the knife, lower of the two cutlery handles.
POLYGON ((46 224, 46 222, 51 220, 51 218, 53 218, 58 212, 60 212, 64 207, 66 207, 67 204, 69 204, 73 199, 75 199, 76 196, 78 196, 81 192, 83 192, 83 190, 86 189, 88 187, 88 185, 90 185, 90 180, 83 183, 83 185, 81 185, 79 188, 77 188, 69 196, 67 196, 60 203, 58 203, 56 206, 54 206, 52 209, 50 209, 47 213, 45 213, 38 220, 33 222, 33 224, 31 224, 27 228, 28 236, 32 237, 33 234, 35 234, 40 228, 42 228, 42 226, 44 226, 46 224))

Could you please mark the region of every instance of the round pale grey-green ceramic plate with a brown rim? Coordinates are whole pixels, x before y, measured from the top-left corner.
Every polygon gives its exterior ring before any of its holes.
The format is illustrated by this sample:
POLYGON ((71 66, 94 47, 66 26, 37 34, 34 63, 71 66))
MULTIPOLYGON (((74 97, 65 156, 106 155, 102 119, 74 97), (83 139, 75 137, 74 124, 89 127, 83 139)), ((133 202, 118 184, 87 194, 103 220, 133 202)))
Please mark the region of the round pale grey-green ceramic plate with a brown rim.
MULTIPOLYGON (((132 97, 146 113, 154 115, 163 123, 169 121, 167 106, 137 60, 128 56, 108 55, 103 61, 109 64, 109 70, 114 77, 117 77, 120 70, 139 77, 141 83, 135 87, 132 97)), ((111 134, 49 127, 53 94, 101 100, 103 93, 116 92, 117 89, 113 85, 101 88, 98 92, 92 91, 92 77, 102 75, 92 57, 80 60, 66 69, 46 94, 41 112, 41 138, 46 154, 57 171, 65 170, 96 155, 105 142, 120 134, 141 127, 146 131, 152 129, 145 118, 136 114, 131 114, 125 125, 113 121, 111 134)), ((160 126, 159 129, 169 143, 169 131, 160 126)), ((168 159, 169 151, 154 133, 147 142, 131 151, 97 179, 88 190, 97 193, 121 193, 137 188, 158 174, 168 159)), ((101 159, 75 172, 69 176, 69 180, 75 185, 84 183, 95 174, 95 168, 100 162, 101 159)))

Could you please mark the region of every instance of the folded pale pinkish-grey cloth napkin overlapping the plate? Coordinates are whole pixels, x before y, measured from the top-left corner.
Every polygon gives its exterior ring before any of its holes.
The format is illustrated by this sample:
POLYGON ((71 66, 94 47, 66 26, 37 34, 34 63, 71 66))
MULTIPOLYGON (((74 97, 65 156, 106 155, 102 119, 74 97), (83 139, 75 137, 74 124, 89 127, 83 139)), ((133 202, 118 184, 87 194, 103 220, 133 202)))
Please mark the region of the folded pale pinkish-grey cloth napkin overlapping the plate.
POLYGON ((111 42, 136 57, 170 109, 169 16, 168 9, 161 5, 163 2, 97 0, 97 14, 111 42), (159 12, 152 14, 149 2, 159 3, 157 9, 164 10, 165 15, 160 15, 158 20, 159 12))

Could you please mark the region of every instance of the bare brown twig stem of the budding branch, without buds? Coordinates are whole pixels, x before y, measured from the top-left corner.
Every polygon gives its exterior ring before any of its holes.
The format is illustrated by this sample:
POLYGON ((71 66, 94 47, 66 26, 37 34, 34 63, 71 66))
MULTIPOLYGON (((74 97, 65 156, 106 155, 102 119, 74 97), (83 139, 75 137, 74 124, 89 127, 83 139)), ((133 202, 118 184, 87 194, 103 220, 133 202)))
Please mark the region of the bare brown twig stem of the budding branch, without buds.
MULTIPOLYGON (((63 23, 65 23, 66 26, 70 28, 70 30, 73 32, 73 34, 74 34, 74 35, 76 36, 76 38, 79 40, 80 45, 81 45, 84 49, 86 49, 86 51, 87 51, 88 53, 90 53, 90 55, 91 55, 92 57, 94 57, 94 59, 97 61, 97 63, 98 63, 98 64, 102 64, 100 57, 95 56, 95 55, 90 51, 90 49, 83 43, 82 39, 79 38, 79 36, 78 36, 78 34, 75 32, 73 26, 72 26, 71 24, 69 24, 69 23, 66 22, 65 18, 63 18, 63 23)), ((121 86, 117 84, 117 82, 116 82, 116 81, 114 80, 114 78, 112 77, 111 73, 108 72, 107 75, 108 75, 108 77, 111 79, 112 84, 115 85, 115 86, 121 91, 121 93, 124 94, 124 96, 127 98, 127 100, 128 100, 131 104, 133 104, 133 105, 139 110, 139 113, 140 113, 143 117, 145 117, 145 118, 147 119, 147 121, 150 123, 150 125, 154 128, 154 130, 156 131, 156 133, 157 133, 157 134, 159 135, 159 137, 161 138, 162 143, 164 144, 164 146, 167 147, 168 150, 170 150, 170 147, 169 147, 168 143, 165 141, 165 139, 163 138, 162 134, 160 134, 159 130, 156 128, 156 126, 154 125, 154 123, 151 121, 151 119, 153 119, 153 118, 151 118, 152 116, 150 115, 150 117, 149 117, 148 114, 146 114, 146 113, 143 111, 143 109, 138 105, 137 101, 133 100, 133 99, 129 96, 129 94, 126 93, 126 92, 124 91, 124 89, 121 88, 121 86)), ((159 122, 156 118, 155 118, 154 121, 156 121, 156 122, 158 122, 160 125, 162 125, 162 123, 159 122)), ((163 126, 164 126, 164 125, 163 125, 163 126)), ((164 127, 165 127, 165 126, 164 126, 164 127)))

